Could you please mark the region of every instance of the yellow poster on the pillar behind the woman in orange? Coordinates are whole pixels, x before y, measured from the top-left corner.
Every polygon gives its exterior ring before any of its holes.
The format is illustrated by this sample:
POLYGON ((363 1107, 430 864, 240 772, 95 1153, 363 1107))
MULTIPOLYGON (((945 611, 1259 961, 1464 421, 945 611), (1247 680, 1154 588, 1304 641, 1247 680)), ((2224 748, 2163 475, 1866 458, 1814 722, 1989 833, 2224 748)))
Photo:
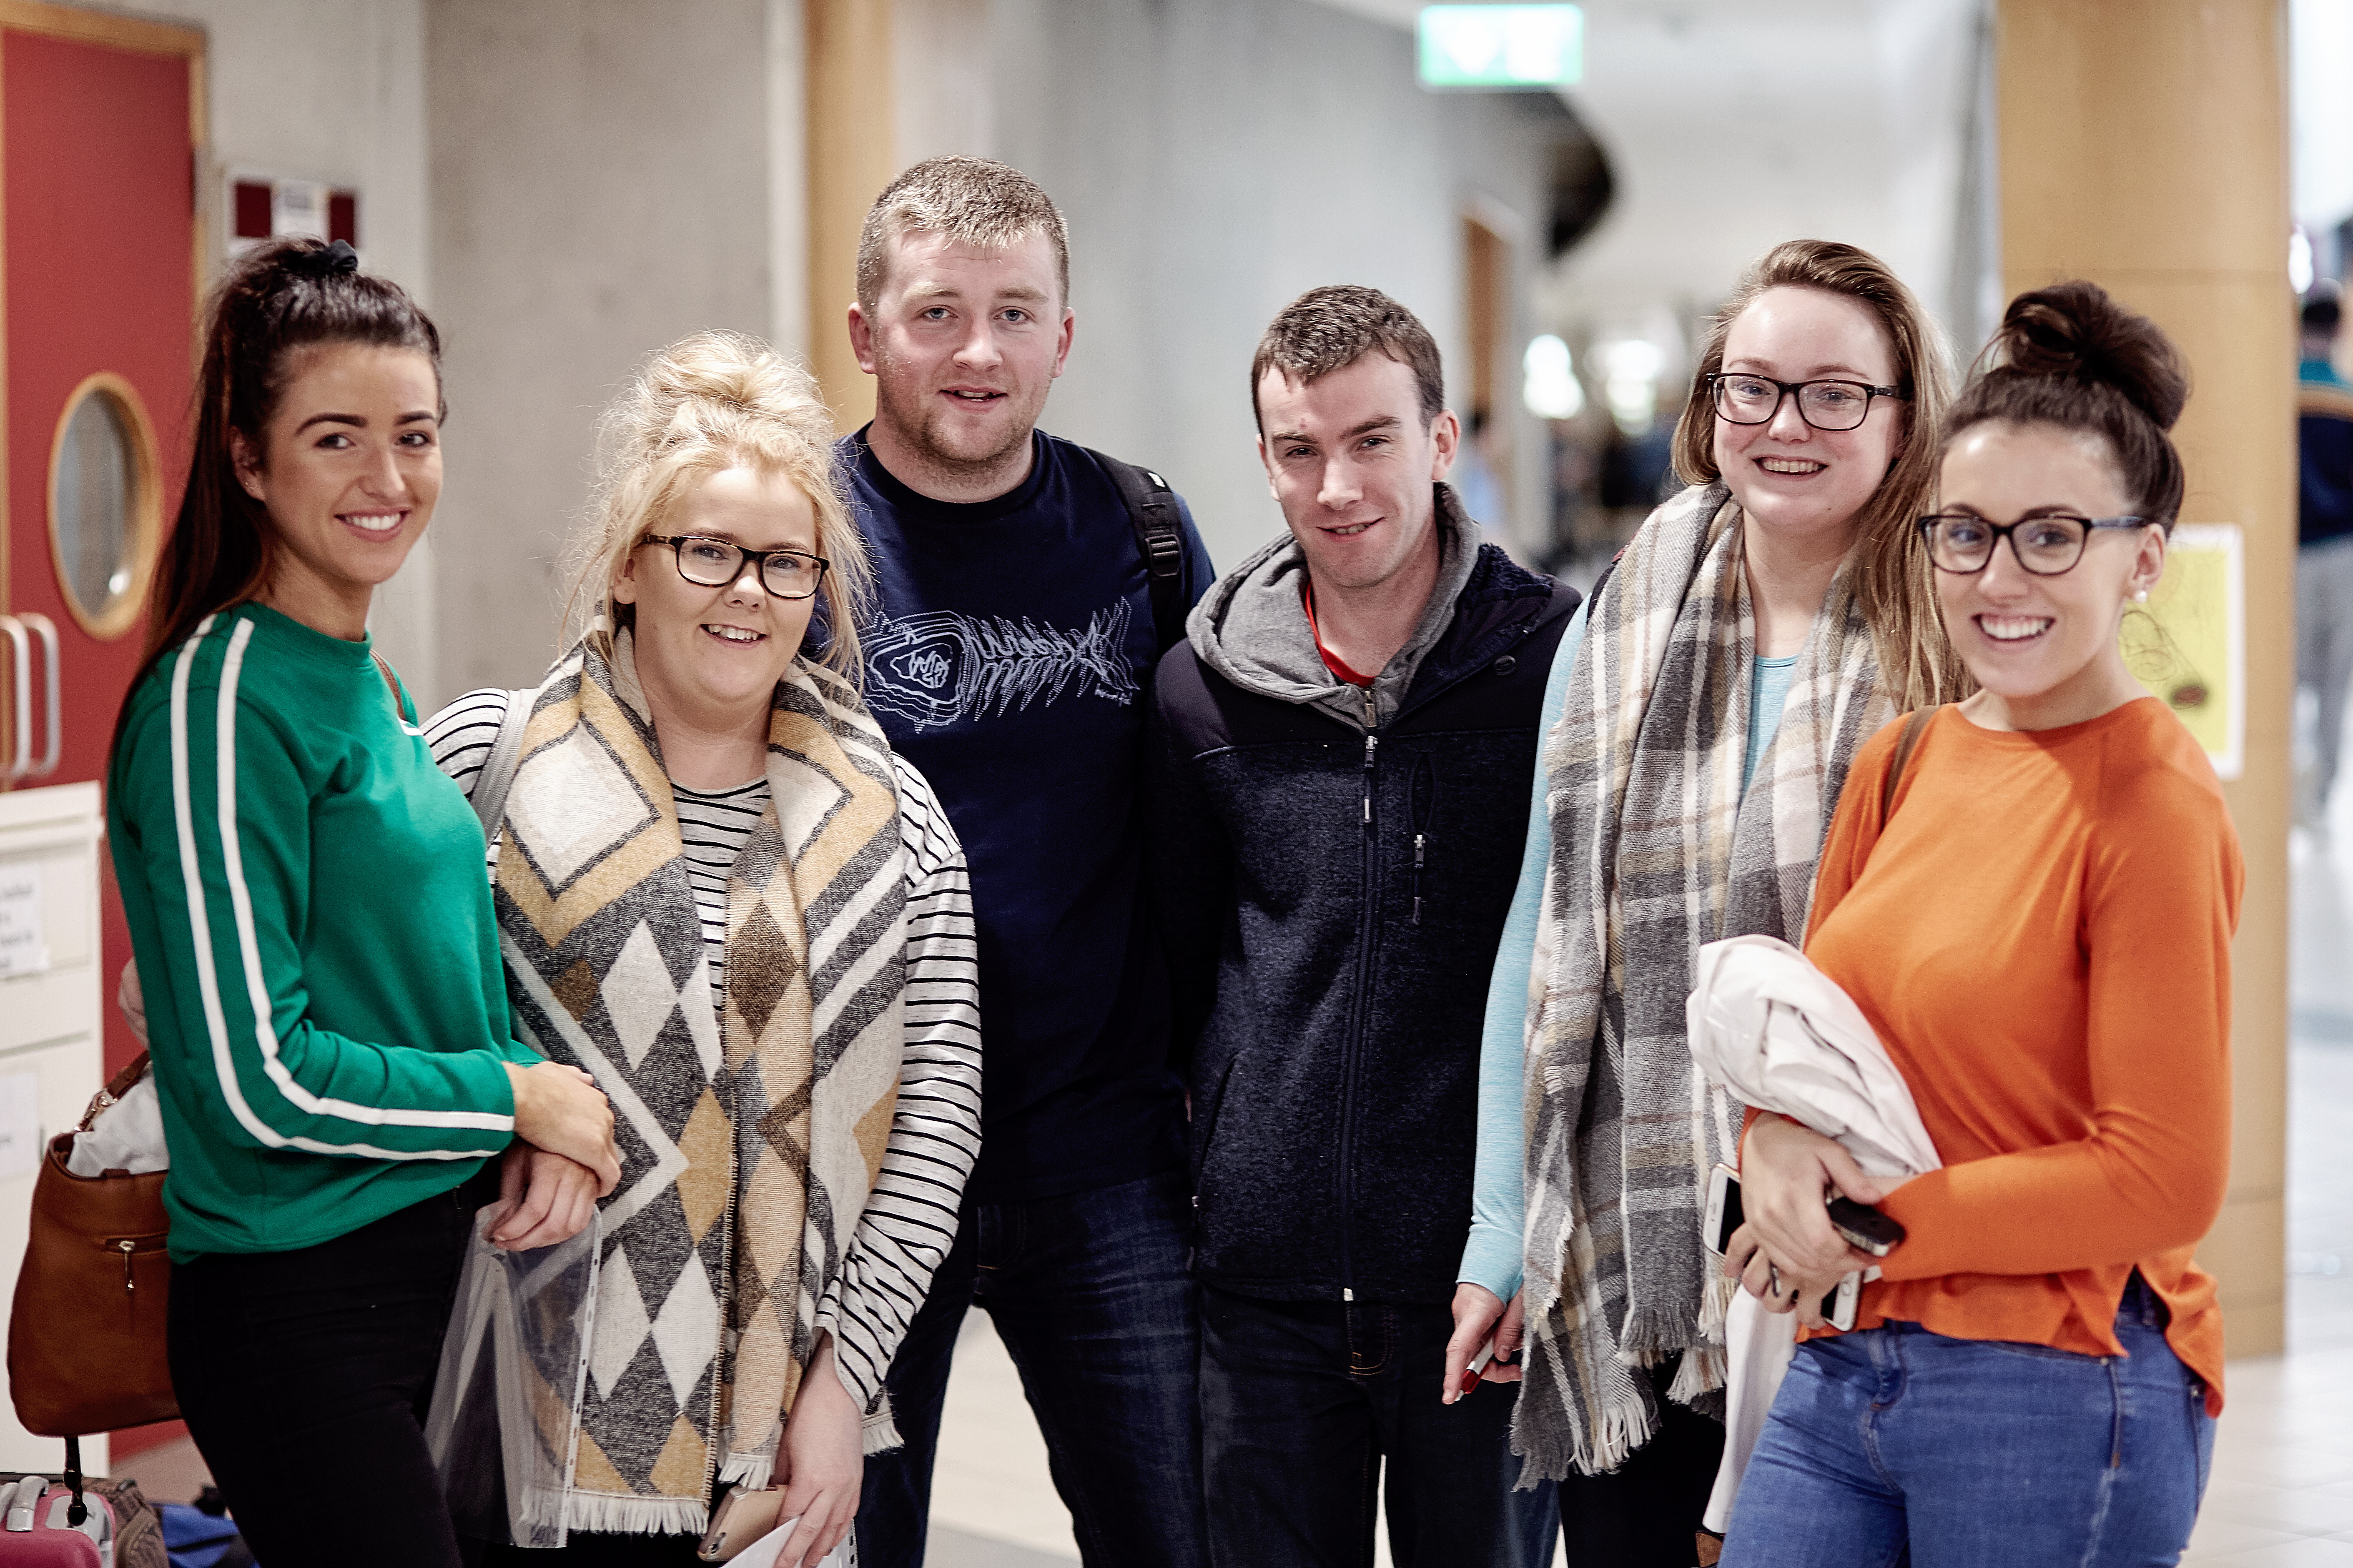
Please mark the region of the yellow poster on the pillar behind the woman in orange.
POLYGON ((2247 766, 2247 562, 2235 522, 2186 522, 2165 578, 2125 611, 2125 663, 2198 736, 2217 778, 2247 766))

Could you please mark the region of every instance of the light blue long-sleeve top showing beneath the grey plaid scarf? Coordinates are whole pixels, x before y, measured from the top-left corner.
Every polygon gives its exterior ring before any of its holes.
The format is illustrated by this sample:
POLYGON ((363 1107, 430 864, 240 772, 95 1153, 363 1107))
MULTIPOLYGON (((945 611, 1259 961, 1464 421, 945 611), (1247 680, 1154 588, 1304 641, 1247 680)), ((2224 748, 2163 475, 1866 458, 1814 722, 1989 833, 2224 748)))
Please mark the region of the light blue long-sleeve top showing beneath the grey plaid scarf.
MULTIPOLYGON (((1569 670, 1577 649, 1586 644, 1586 604, 1577 607, 1569 630, 1553 654, 1553 675, 1544 684, 1544 722, 1539 736, 1551 736, 1569 696, 1569 670)), ((1788 677, 1798 656, 1758 658, 1748 675, 1748 738, 1741 762, 1741 790, 1758 771, 1765 745, 1781 726, 1788 705, 1788 677)), ((1471 1166, 1471 1239, 1457 1279, 1511 1300, 1520 1288, 1520 1232, 1527 1220, 1527 1119, 1522 1107, 1522 1056, 1527 1032, 1527 978, 1537 964, 1537 922, 1544 917, 1544 870, 1553 860, 1553 818, 1546 806, 1544 743, 1537 745, 1537 785, 1527 792, 1527 851, 1520 856, 1520 886, 1513 889, 1504 917, 1504 943, 1487 978, 1487 1020, 1478 1051, 1478 1154, 1471 1166)))

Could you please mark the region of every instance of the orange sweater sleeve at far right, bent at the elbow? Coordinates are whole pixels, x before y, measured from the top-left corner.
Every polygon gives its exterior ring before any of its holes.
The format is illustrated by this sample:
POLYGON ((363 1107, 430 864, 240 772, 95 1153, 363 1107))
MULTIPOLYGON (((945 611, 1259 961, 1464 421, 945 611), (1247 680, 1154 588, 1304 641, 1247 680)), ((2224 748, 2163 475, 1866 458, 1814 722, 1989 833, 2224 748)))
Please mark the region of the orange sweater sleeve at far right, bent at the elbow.
POLYGON ((1887 1279, 2125 1265, 2195 1244, 2221 1211, 2245 867, 2193 780, 2118 783, 2097 804, 2082 898, 2089 1128, 1906 1182, 1882 1204, 1911 1232, 1887 1279))

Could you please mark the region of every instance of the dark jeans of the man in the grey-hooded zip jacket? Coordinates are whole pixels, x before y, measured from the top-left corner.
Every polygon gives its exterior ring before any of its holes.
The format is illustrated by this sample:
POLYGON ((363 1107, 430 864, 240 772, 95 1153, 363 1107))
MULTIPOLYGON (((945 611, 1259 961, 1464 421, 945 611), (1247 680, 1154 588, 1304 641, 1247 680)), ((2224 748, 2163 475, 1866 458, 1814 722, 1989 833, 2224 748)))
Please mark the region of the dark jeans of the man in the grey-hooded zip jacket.
POLYGON ((1398 1568, 1544 1568, 1553 1486, 1513 1490, 1515 1385, 1438 1403, 1454 1316, 1438 1305, 1268 1302, 1202 1288, 1209 1559, 1362 1568, 1388 1460, 1398 1568))

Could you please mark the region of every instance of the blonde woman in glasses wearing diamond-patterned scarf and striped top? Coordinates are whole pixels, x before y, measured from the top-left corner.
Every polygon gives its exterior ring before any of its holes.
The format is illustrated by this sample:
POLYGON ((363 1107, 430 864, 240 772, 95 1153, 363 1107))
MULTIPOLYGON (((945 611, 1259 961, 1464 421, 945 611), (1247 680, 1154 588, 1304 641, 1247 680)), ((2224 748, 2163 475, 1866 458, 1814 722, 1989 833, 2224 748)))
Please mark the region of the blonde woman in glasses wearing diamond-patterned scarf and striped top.
POLYGON ((882 1375, 979 1145, 965 860, 856 693, 868 569, 807 371, 673 343, 598 494, 581 639, 426 731, 496 811, 515 1016, 626 1112, 569 1542, 482 1561, 692 1563, 713 1486, 776 1483, 800 1568, 896 1443, 882 1375))

